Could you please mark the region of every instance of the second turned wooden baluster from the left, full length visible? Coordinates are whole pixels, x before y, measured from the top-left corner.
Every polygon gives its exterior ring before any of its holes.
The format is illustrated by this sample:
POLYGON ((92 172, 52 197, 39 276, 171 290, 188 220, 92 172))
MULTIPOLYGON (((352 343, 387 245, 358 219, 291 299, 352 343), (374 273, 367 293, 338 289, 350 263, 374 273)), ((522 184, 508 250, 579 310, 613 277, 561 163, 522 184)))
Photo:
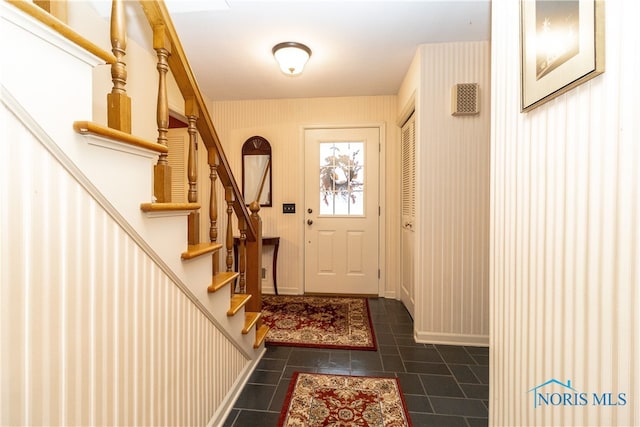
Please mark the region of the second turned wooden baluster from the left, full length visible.
MULTIPOLYGON (((158 104, 156 121, 158 124, 158 144, 167 146, 169 131, 169 97, 167 96, 167 72, 169 71, 169 55, 171 44, 165 35, 164 25, 153 27, 153 48, 158 55, 158 104)), ((160 154, 158 164, 154 167, 153 193, 159 203, 171 202, 171 168, 167 153, 160 154)))

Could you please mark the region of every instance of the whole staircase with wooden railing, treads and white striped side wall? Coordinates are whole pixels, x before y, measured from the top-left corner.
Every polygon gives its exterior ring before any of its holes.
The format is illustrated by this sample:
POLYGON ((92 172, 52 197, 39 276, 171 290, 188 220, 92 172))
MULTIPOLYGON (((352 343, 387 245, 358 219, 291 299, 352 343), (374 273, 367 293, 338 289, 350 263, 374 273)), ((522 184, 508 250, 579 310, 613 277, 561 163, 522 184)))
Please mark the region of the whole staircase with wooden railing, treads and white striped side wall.
MULTIPOLYGON (((9 40, 13 44, 6 41, 5 56, 17 65, 17 69, 12 68, 3 75, 3 106, 31 129, 36 139, 48 141, 47 150, 51 156, 82 188, 77 190, 78 194, 88 192, 99 207, 96 208, 91 200, 87 201, 89 207, 83 212, 90 215, 97 212, 98 215, 94 219, 78 219, 75 225, 71 214, 80 196, 62 199, 61 203, 58 197, 76 194, 76 184, 68 184, 72 190, 61 190, 58 194, 53 180, 43 198, 43 215, 49 215, 49 206, 60 204, 55 212, 68 211, 65 215, 71 218, 66 225, 58 226, 59 230, 52 227, 43 231, 34 223, 36 232, 29 235, 34 242, 37 233, 54 236, 44 239, 43 251, 48 257, 45 267, 54 265, 58 258, 64 266, 56 267, 40 282, 51 286, 43 295, 51 292, 52 297, 55 295, 54 301, 64 300, 64 303, 62 308, 52 312, 51 316, 56 320, 48 322, 50 325, 45 322, 28 326, 32 320, 24 313, 31 313, 31 308, 18 314, 17 318, 26 322, 27 332, 15 336, 15 348, 16 354, 22 354, 25 360, 31 360, 37 354, 48 355, 47 362, 25 362, 16 367, 16 372, 33 363, 38 366, 50 364, 47 365, 50 373, 46 376, 49 382, 38 386, 38 370, 30 368, 16 375, 15 389, 20 391, 13 395, 13 378, 7 380, 3 387, 9 391, 3 395, 10 399, 13 396, 12 399, 22 402, 22 406, 15 405, 15 412, 2 411, 0 424, 186 425, 203 424, 202 420, 205 420, 204 423, 217 425, 226 418, 226 412, 264 352, 268 327, 262 324, 261 313, 259 206, 252 204, 249 212, 245 205, 162 2, 140 2, 152 28, 153 46, 158 56, 157 67, 148 70, 149 73, 159 72, 157 103, 153 106, 157 111, 158 137, 153 141, 132 134, 132 101, 125 90, 126 43, 122 43, 126 39, 124 5, 120 1, 113 4, 111 39, 114 53, 83 38, 31 2, 5 1, 1 5, 2 24, 11 27, 11 34, 19 34, 9 40), (34 20, 37 23, 34 24, 34 20), (22 38, 33 39, 38 49, 29 48, 25 52, 22 38), (58 52, 59 45, 64 45, 64 54, 58 52), (51 62, 48 62, 49 58, 51 62), (92 79, 96 74, 91 69, 100 67, 111 68, 113 82, 113 89, 108 94, 106 124, 79 120, 91 116, 92 110, 91 94, 82 93, 81 88, 95 85, 92 79), (170 199, 165 138, 169 114, 168 73, 178 84, 185 101, 184 113, 189 120, 189 200, 184 203, 170 199), (19 84, 22 75, 31 83, 19 84), (61 105, 64 107, 60 108, 61 105), (198 195, 196 185, 201 176, 195 170, 198 162, 193 149, 198 136, 206 147, 209 166, 210 187, 205 197, 198 195), (51 200, 55 203, 50 203, 51 200), (65 207, 65 203, 69 206, 65 207), (226 205, 226 209, 219 209, 219 204, 226 205), (209 208, 202 215, 209 219, 208 223, 200 215, 203 205, 209 208), (85 222, 87 228, 81 228, 85 222), (203 224, 208 225, 209 241, 201 241, 203 224), (103 227, 104 231, 101 231, 103 227), (218 234, 223 236, 221 242, 218 234), (234 234, 240 236, 238 271, 233 271, 234 234), (67 237, 56 238, 58 235, 67 237), (88 243, 83 242, 85 235, 88 243), (61 243, 52 244, 56 239, 61 243), (66 243, 69 247, 73 246, 71 243, 76 247, 82 243, 86 250, 67 249, 66 246, 61 250, 66 243), (102 254, 104 248, 107 251, 102 254), (56 251, 65 256, 57 257, 56 251), (88 267, 76 267, 70 259, 76 255, 79 257, 76 262, 88 267), (94 277, 98 273, 90 271, 91 266, 102 272, 102 276, 94 277), (72 280, 76 270, 79 276, 91 276, 86 284, 90 289, 86 300, 80 299, 84 279, 72 280), (56 279, 58 273, 60 277, 56 279), (117 291, 112 293, 110 286, 117 291), (71 310, 76 302, 79 306, 71 310), (93 314, 93 311, 102 314, 93 314), (131 323, 127 324, 127 321, 131 323), (38 328, 44 328, 42 333, 48 334, 43 325, 51 327, 47 340, 29 338, 30 334, 39 333, 38 328), (57 334, 62 335, 58 337, 57 334), (72 342, 76 338, 91 344, 72 342), (31 344, 21 344, 25 340, 31 344), (86 350, 76 351, 75 346, 86 350), (64 351, 58 354, 60 349, 64 351), (85 357, 91 360, 86 369, 82 362, 85 357), (146 373, 139 374, 138 371, 146 373), (73 373, 77 376, 72 376, 73 373), (84 376, 88 378, 86 384, 82 379, 84 376), (132 379, 127 379, 129 376, 132 379), (25 382, 20 382, 21 379, 25 382), (68 389, 72 386, 73 389, 68 389), (83 399, 94 403, 82 404, 83 399), (36 407, 28 402, 46 403, 36 407), (101 402, 101 405, 95 402, 101 402), (101 409, 104 405, 110 409, 101 409), (43 407, 63 409, 41 410, 43 407), (126 408, 137 409, 127 411, 126 408)), ((135 106, 135 98, 133 103, 135 106)), ((3 161, 6 171, 12 169, 11 162, 18 161, 18 156, 6 153, 3 148, 3 161)), ((15 177, 13 171, 4 172, 7 175, 3 175, 3 180, 29 181, 28 174, 24 178, 21 175, 24 172, 17 169, 15 177)), ((44 168, 42 173, 45 172, 48 168, 44 168)), ((48 179, 43 182, 46 184, 48 179)), ((14 194, 16 199, 25 200, 29 200, 31 194, 41 194, 39 188, 29 188, 30 182, 21 184, 25 190, 8 190, 9 202, 14 194)), ((25 202, 20 203, 28 206, 25 202)), ((39 217, 41 212, 29 213, 25 208, 24 213, 30 218, 39 217)), ((43 223, 65 221, 65 215, 54 215, 43 223)), ((29 218, 24 219, 25 224, 29 218)), ((26 249, 17 251, 20 254, 40 250, 36 243, 23 246, 26 249)), ((22 258, 25 259, 20 261, 25 264, 22 270, 44 268, 36 260, 24 255, 22 258)), ((7 265, 3 263, 3 267, 7 265)), ((12 278, 12 271, 6 268, 3 274, 12 278)), ((24 280, 29 282, 28 277, 24 280)), ((32 289, 29 286, 16 287, 16 310, 25 298, 30 301, 25 302, 27 307, 42 304, 43 310, 51 310, 47 308, 50 306, 47 299, 38 292, 21 293, 20 289, 32 289)), ((6 296, 4 292, 3 297, 6 296)), ((11 313, 7 312, 7 315, 11 313)), ((20 325, 16 326, 18 331, 20 325)))

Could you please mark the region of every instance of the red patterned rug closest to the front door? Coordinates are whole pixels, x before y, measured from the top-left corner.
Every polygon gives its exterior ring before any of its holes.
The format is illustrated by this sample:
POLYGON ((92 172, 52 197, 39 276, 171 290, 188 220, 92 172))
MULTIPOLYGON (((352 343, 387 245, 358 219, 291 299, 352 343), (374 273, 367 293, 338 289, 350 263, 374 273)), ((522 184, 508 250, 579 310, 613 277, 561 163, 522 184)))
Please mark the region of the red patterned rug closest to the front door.
POLYGON ((267 344, 376 349, 366 298, 264 295, 262 314, 267 344))

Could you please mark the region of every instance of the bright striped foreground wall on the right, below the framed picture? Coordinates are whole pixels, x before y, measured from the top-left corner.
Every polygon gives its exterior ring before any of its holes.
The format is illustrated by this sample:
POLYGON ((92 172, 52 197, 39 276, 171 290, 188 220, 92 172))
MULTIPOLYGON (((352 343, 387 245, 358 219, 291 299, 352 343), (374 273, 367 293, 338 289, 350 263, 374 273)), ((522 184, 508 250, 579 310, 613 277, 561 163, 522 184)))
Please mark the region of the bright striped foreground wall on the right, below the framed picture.
POLYGON ((518 3, 492 4, 490 424, 640 425, 640 3, 603 2, 603 75, 524 114, 518 3))

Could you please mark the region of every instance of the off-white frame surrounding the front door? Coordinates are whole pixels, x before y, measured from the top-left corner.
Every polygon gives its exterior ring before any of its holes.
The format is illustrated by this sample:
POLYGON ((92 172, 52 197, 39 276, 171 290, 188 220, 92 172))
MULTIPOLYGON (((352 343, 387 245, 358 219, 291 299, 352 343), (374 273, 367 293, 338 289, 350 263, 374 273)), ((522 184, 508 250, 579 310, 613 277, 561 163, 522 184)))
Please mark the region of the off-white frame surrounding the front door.
MULTIPOLYGON (((305 131, 307 130, 317 130, 317 129, 350 129, 350 128, 376 128, 378 129, 378 134, 380 136, 380 151, 378 153, 378 206, 380 207, 380 215, 378 216, 378 269, 380 271, 378 277, 378 296, 385 296, 387 289, 387 280, 386 280, 386 124, 384 122, 355 122, 355 123, 341 123, 341 124, 306 124, 300 127, 299 131, 299 141, 303 146, 301 150, 301 158, 298 162, 298 176, 302 177, 303 183, 300 185, 300 193, 298 195, 298 200, 301 200, 300 206, 304 208, 304 200, 305 200, 305 189, 304 189, 304 160, 305 153, 307 150, 305 144, 305 131)), ((300 231, 300 259, 304 260, 305 258, 305 248, 304 244, 305 238, 305 216, 304 214, 300 217, 299 231, 300 231)), ((304 264, 300 269, 299 274, 299 283, 300 283, 300 293, 304 294, 305 292, 305 283, 304 283, 304 264)))

